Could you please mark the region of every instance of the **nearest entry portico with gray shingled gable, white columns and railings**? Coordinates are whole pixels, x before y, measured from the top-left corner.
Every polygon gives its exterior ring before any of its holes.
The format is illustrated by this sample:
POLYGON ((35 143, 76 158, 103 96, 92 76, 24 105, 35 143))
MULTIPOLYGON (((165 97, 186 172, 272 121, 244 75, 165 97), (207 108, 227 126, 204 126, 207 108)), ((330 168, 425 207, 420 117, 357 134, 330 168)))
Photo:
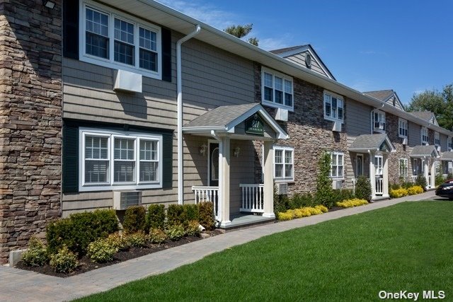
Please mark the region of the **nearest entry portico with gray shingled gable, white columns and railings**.
MULTIPOLYGON (((231 167, 231 141, 263 141, 264 184, 240 184, 240 188, 235 190, 241 190, 242 193, 239 194, 242 197, 240 211, 261 214, 269 219, 275 218, 273 143, 277 139, 287 139, 288 135, 260 103, 214 108, 185 124, 183 133, 206 137, 208 144, 214 140, 215 148, 218 148, 218 168, 215 167, 217 165, 215 160, 212 161, 210 158, 213 153, 210 151, 208 154, 208 169, 212 171, 208 174, 218 175, 218 186, 212 186, 212 182, 208 180, 206 187, 193 187, 193 190, 195 202, 206 199, 214 202, 215 216, 221 228, 227 228, 231 224, 230 168, 240 168, 231 167)), ((239 156, 240 152, 241 150, 237 147, 233 150, 235 156, 239 156)), ((246 149, 243 152, 252 152, 252 150, 246 149)), ((214 153, 214 156, 217 156, 217 153, 214 153)), ((250 172, 254 173, 254 171, 250 172)), ((238 198, 237 194, 235 197, 238 198)))

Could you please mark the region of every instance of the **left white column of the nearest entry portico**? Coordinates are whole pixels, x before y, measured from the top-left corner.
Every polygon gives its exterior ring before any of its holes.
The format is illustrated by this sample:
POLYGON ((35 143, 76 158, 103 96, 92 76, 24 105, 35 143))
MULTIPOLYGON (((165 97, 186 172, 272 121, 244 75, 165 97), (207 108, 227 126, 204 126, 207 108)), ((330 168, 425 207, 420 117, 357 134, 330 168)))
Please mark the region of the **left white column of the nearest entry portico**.
POLYGON ((220 226, 231 224, 229 220, 229 137, 219 144, 219 209, 220 226))

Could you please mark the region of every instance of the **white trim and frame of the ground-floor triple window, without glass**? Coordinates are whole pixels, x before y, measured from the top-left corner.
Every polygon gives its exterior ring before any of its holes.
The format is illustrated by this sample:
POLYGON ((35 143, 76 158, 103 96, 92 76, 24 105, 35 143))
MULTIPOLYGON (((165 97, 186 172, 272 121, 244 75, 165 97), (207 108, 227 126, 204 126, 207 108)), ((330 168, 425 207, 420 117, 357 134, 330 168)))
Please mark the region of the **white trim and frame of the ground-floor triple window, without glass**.
MULTIPOLYGON (((162 136, 157 134, 145 134, 142 132, 121 132, 121 131, 109 131, 103 129, 94 128, 79 128, 79 192, 90 192, 90 191, 108 191, 108 190, 139 190, 139 189, 156 189, 162 187, 162 171, 163 171, 163 146, 162 136), (86 135, 94 135, 98 137, 108 137, 108 161, 109 161, 109 182, 106 184, 86 184, 85 183, 85 137, 86 135), (118 183, 113 182, 113 171, 114 171, 114 139, 115 138, 127 138, 135 139, 135 182, 130 183, 118 183), (153 140, 157 141, 158 154, 158 180, 153 182, 140 182, 139 178, 139 140, 153 140)), ((105 159, 106 161, 107 159, 105 159)))

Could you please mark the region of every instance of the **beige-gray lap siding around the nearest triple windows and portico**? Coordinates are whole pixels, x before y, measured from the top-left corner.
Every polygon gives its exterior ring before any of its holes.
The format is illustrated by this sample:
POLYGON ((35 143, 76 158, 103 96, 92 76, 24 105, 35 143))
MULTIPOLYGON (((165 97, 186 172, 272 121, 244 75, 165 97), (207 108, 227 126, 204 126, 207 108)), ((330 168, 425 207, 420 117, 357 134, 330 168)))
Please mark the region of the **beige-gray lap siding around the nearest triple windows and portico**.
MULTIPOLYGON (((176 141, 176 40, 181 35, 172 33, 172 82, 143 76, 142 93, 113 91, 113 69, 74 59, 63 58, 63 117, 95 122, 130 124, 142 127, 173 129, 173 188, 142 192, 142 203, 176 203, 177 201, 177 141, 176 141)), ((182 76, 184 122, 193 120, 207 110, 221 105, 253 103, 255 82, 253 62, 225 52, 195 39, 182 47, 182 76)), ((207 143, 205 137, 184 136, 184 199, 194 202, 193 185, 207 185, 207 158, 199 148, 207 143)), ((242 143, 241 143, 242 144, 242 143)), ((244 143, 245 144, 245 143, 244 143)), ((231 145, 235 148, 236 145, 231 145)), ((243 146, 246 154, 248 146, 243 146)), ((242 153, 242 151, 241 151, 242 153)), ((244 162, 231 166, 231 197, 240 195, 239 182, 253 183, 253 156, 250 167, 244 162), (251 176, 246 170, 250 168, 251 176), (238 175, 236 175, 237 173, 238 175), (234 174, 236 173, 236 174, 234 174)), ((239 159, 232 158, 235 163, 239 159)), ((233 199, 231 199, 233 202, 233 199)), ((238 205, 239 202, 236 202, 238 205)), ((63 216, 74 211, 88 211, 113 207, 113 193, 80 192, 63 194, 63 216)), ((239 211, 239 208, 238 208, 239 211)))

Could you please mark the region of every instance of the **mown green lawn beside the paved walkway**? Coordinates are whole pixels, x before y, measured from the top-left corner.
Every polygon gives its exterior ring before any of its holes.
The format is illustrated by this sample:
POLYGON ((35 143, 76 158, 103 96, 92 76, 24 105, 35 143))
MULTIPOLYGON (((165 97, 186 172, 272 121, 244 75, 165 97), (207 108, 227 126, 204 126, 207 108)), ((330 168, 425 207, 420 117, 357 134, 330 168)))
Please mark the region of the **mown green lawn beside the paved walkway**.
POLYGON ((451 300, 452 216, 452 202, 405 202, 260 238, 81 301, 377 301, 381 290, 442 290, 451 300))

